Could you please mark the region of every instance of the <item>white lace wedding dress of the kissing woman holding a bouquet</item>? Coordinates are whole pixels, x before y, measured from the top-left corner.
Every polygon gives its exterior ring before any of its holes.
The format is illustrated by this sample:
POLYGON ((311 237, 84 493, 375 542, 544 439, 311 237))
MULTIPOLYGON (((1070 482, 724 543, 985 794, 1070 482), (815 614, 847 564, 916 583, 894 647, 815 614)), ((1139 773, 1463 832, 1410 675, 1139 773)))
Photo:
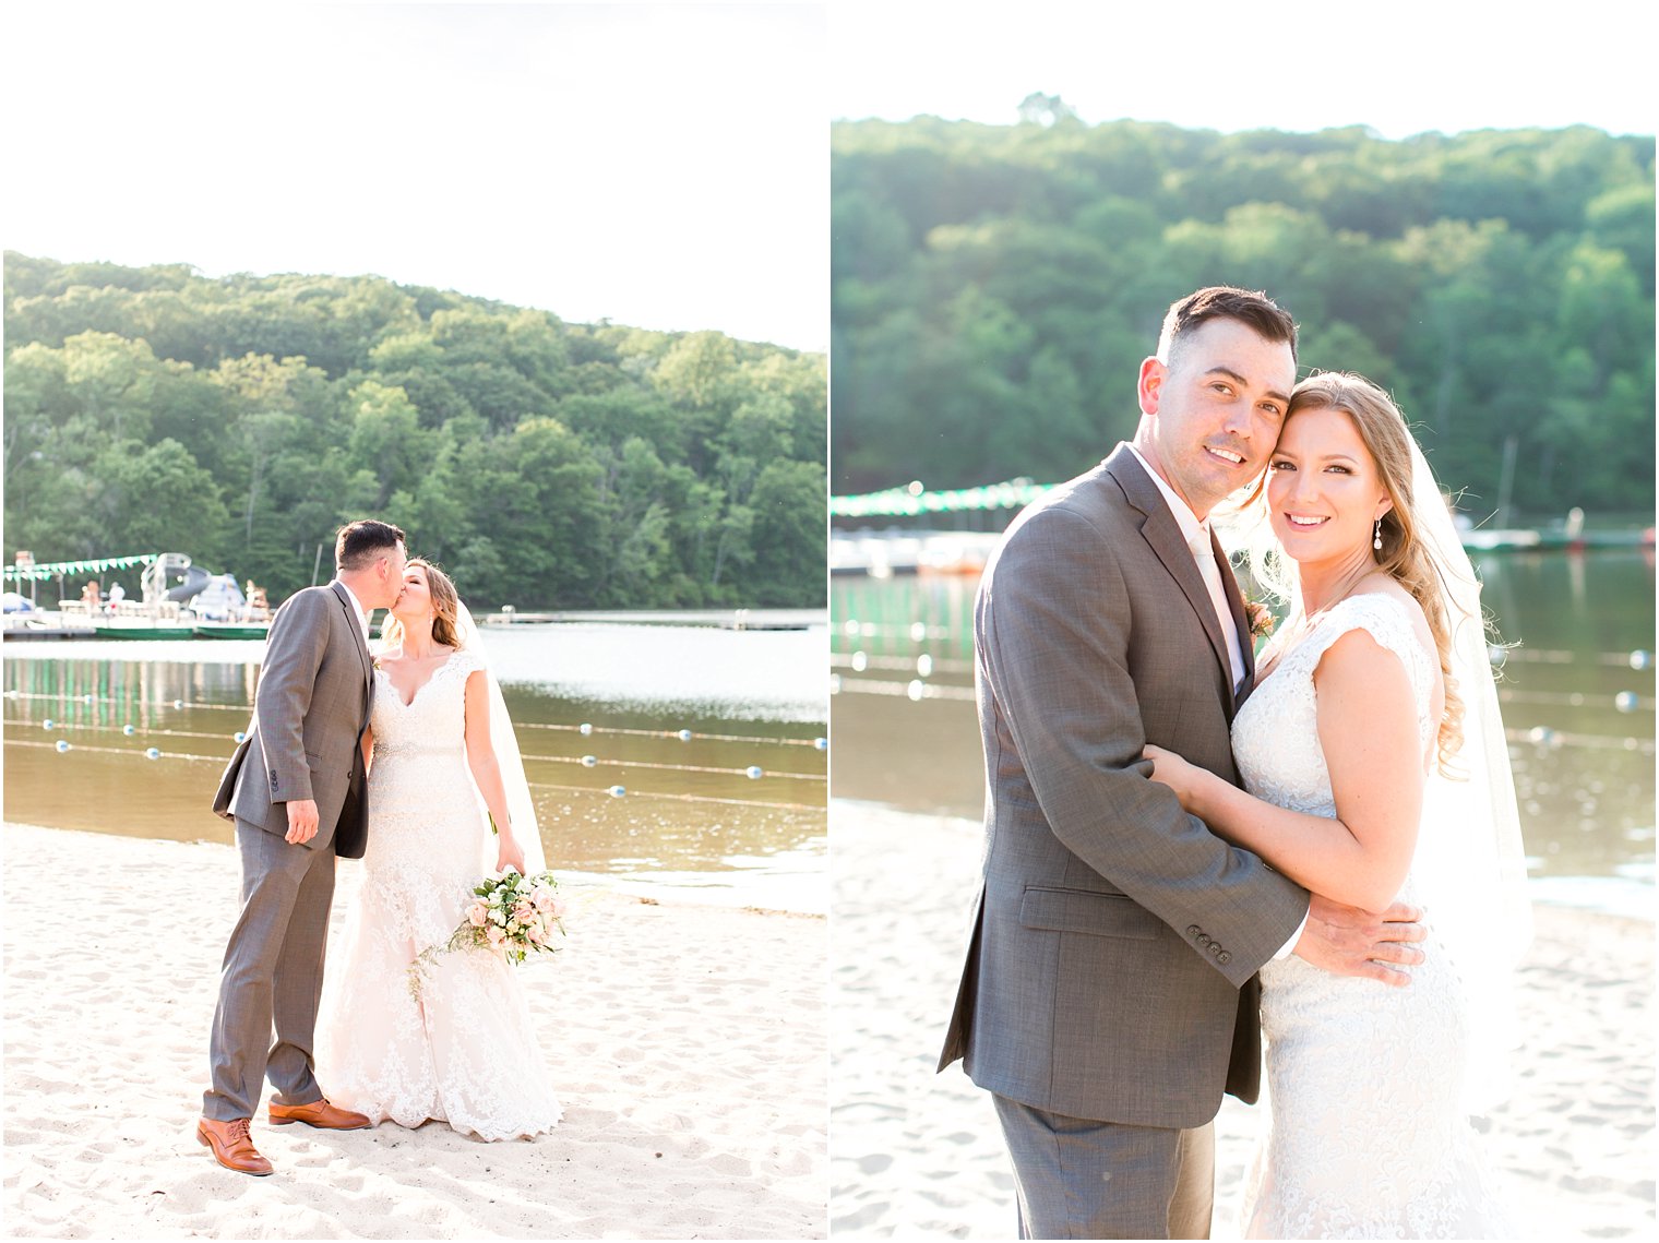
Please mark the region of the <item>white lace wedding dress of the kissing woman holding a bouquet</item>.
POLYGON ((456 651, 403 704, 375 670, 368 850, 343 953, 328 964, 317 1077, 370 1120, 433 1119, 484 1140, 559 1120, 523 982, 499 954, 438 954, 416 997, 408 968, 461 923, 496 845, 466 763, 466 677, 456 651))

